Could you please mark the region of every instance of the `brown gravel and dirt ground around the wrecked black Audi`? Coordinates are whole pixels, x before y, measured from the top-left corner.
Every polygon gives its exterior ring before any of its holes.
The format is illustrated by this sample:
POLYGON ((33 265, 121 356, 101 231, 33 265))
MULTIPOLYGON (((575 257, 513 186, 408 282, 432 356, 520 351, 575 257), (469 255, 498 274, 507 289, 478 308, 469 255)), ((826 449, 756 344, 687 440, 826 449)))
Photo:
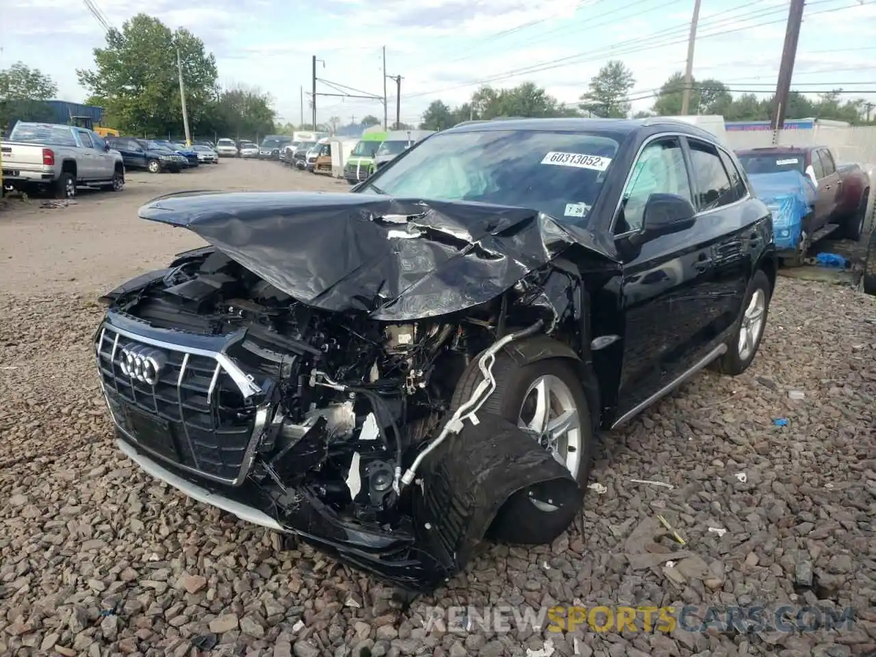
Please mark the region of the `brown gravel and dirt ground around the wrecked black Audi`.
POLYGON ((346 188, 223 161, 134 174, 121 194, 81 194, 74 207, 0 211, 0 654, 876 653, 872 298, 780 279, 749 372, 703 374, 606 436, 583 533, 485 547, 399 610, 376 581, 182 497, 111 441, 90 350, 95 294, 198 244, 136 219, 151 196, 195 187, 346 188), (654 538, 658 514, 682 548, 654 538), (855 607, 858 620, 806 633, 427 622, 432 605, 468 604, 816 604, 855 607))

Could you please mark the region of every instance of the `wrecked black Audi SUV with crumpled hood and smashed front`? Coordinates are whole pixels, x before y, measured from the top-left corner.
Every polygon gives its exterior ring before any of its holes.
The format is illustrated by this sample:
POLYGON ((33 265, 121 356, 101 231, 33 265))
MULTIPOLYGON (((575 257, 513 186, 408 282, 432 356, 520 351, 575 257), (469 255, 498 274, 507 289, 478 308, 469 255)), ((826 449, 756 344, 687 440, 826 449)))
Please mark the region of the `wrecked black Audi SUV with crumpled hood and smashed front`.
POLYGON ((772 219, 669 119, 459 124, 351 193, 183 193, 203 248, 103 297, 118 447, 237 517, 408 590, 544 543, 597 433, 751 364, 772 219))

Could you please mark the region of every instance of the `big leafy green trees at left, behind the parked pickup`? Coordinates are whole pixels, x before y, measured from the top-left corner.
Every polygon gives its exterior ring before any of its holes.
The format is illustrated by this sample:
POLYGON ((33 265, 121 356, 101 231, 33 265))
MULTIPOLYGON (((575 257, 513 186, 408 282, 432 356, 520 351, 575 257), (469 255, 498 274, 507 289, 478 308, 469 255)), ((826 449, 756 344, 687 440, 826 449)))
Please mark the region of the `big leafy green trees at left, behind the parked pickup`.
MULTIPOLYGON (((256 138, 276 129, 270 95, 245 85, 222 88, 215 56, 201 39, 143 13, 107 33, 106 45, 94 49, 93 68, 76 71, 89 92, 85 104, 102 107, 103 124, 123 134, 182 136, 177 53, 193 138, 256 138)), ((0 71, 0 126, 51 120, 44 101, 57 92, 51 78, 22 62, 0 71)))

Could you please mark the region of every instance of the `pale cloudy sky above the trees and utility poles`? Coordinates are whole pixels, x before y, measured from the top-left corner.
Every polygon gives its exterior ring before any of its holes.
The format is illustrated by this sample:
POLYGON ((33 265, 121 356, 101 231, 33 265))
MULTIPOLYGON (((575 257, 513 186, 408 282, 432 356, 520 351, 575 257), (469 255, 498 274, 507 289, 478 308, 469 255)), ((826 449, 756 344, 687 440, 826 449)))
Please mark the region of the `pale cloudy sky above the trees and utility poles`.
MULTIPOLYGON (((416 123, 429 102, 464 102, 485 81, 513 86, 533 81, 575 102, 609 59, 624 60, 636 84, 633 109, 648 109, 653 93, 682 70, 694 0, 95 0, 120 27, 148 11, 171 28, 186 27, 215 53, 223 85, 267 91, 284 121, 299 123, 300 89, 317 77, 383 95, 386 73, 403 76, 401 119, 416 123), (185 8, 180 8, 185 5, 185 8), (148 9, 145 9, 148 7, 148 9), (555 63, 551 63, 555 62, 555 63)), ((771 93, 779 60, 786 0, 702 0, 694 75, 732 89, 771 93)), ((876 0, 808 0, 794 88, 843 86, 876 90, 876 0)), ((21 60, 50 74, 63 100, 86 92, 75 69, 93 67, 104 32, 72 0, 4 0, 0 67, 21 60)), ((387 81, 389 116, 394 81, 387 81)), ((317 82, 317 92, 336 89, 317 82)), ((876 102, 876 94, 860 94, 876 102)), ((851 97, 851 96, 844 96, 851 97)), ((305 99, 305 120, 309 117, 305 99)), ((383 117, 379 101, 320 96, 318 118, 383 117)))

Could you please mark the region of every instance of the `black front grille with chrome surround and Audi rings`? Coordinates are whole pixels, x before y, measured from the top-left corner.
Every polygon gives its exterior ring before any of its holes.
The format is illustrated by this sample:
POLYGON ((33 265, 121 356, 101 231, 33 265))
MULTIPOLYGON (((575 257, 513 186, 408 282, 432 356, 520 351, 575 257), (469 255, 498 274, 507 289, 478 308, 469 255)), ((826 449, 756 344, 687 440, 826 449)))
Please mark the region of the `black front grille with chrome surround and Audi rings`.
POLYGON ((260 427, 257 409, 223 366, 226 360, 139 342, 109 325, 95 350, 109 410, 123 434, 184 470, 226 484, 243 481, 260 427), (131 374, 124 368, 126 352, 144 361, 152 356, 160 364, 158 376, 131 374))

